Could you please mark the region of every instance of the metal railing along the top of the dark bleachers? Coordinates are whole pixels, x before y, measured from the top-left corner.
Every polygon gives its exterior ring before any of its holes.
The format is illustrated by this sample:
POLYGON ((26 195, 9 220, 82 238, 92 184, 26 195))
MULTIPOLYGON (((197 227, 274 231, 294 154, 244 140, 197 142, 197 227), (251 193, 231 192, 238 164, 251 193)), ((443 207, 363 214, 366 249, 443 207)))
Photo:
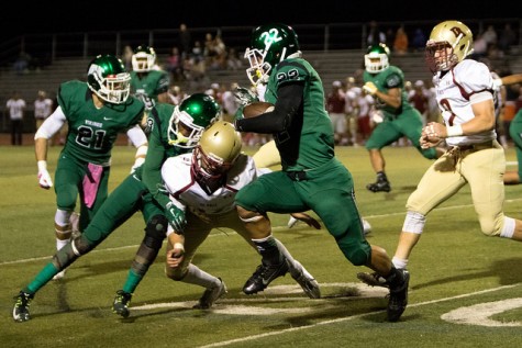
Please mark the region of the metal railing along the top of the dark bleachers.
MULTIPOLYGON (((420 27, 427 36, 434 24, 433 21, 396 21, 380 22, 381 31, 395 35, 397 29, 403 24, 411 40, 413 31, 420 27)), ((500 35, 506 23, 510 23, 517 33, 515 45, 522 44, 521 19, 490 19, 490 20, 465 20, 474 33, 482 32, 492 24, 500 35)), ((303 50, 330 50, 330 49, 360 49, 366 47, 368 23, 329 23, 329 24, 296 24, 293 25, 299 35, 299 42, 303 50)), ((243 52, 248 44, 251 26, 221 26, 221 27, 191 27, 192 42, 204 42, 204 35, 220 34, 229 47, 243 52)), ((38 64, 52 64, 58 58, 90 58, 101 53, 110 53, 121 56, 123 47, 131 45, 154 46, 159 55, 167 55, 177 45, 179 29, 156 29, 134 31, 105 31, 105 32, 71 32, 29 34, 19 36, 0 44, 0 67, 10 67, 21 52, 27 53, 38 64)))

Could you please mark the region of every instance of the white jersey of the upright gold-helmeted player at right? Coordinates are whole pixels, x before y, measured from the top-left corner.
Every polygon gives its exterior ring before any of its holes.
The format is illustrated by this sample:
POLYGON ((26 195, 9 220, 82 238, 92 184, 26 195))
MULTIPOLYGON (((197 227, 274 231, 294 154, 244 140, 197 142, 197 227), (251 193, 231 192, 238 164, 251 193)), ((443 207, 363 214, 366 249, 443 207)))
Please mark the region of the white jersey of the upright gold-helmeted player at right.
MULTIPOLYGON (((465 59, 443 77, 433 77, 436 100, 446 126, 463 124, 475 117, 471 104, 496 98, 491 71, 473 59, 465 59)), ((484 143, 497 138, 495 130, 475 135, 447 137, 449 146, 484 143)))

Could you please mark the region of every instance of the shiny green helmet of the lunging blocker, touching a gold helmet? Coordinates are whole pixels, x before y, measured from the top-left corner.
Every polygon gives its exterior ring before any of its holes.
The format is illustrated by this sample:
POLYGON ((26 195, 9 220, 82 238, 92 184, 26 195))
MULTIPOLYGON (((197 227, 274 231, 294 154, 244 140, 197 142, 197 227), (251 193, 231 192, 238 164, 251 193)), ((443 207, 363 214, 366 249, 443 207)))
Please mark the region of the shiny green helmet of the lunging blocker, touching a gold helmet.
POLYGON ((218 102, 206 93, 195 93, 174 109, 168 124, 168 144, 181 148, 198 145, 203 130, 221 115, 218 102))

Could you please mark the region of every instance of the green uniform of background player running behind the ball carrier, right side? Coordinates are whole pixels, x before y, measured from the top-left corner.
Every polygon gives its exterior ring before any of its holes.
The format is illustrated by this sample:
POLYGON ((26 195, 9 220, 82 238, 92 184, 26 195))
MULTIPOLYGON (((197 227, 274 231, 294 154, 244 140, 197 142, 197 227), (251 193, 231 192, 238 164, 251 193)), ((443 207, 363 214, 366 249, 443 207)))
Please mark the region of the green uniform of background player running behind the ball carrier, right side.
POLYGON ((422 156, 429 159, 436 158, 435 148, 422 149, 420 146, 422 116, 419 110, 408 101, 408 94, 403 89, 404 74, 402 70, 396 66, 389 66, 378 74, 370 74, 365 70, 363 79, 365 82, 374 82, 382 93, 387 93, 392 88, 402 89, 401 105, 398 109, 375 97, 375 106, 382 112, 384 121, 374 128, 365 147, 367 149, 381 149, 406 136, 422 156))

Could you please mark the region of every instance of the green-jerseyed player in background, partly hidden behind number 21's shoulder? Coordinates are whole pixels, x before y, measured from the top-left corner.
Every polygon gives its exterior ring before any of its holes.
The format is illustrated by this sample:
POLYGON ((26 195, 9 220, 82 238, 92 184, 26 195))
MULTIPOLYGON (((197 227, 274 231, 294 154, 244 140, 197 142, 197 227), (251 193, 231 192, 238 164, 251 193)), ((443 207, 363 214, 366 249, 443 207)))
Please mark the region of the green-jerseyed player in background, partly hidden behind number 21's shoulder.
POLYGON ((137 46, 131 58, 131 94, 140 98, 147 109, 157 102, 170 103, 168 72, 156 65, 156 52, 149 46, 137 46))

